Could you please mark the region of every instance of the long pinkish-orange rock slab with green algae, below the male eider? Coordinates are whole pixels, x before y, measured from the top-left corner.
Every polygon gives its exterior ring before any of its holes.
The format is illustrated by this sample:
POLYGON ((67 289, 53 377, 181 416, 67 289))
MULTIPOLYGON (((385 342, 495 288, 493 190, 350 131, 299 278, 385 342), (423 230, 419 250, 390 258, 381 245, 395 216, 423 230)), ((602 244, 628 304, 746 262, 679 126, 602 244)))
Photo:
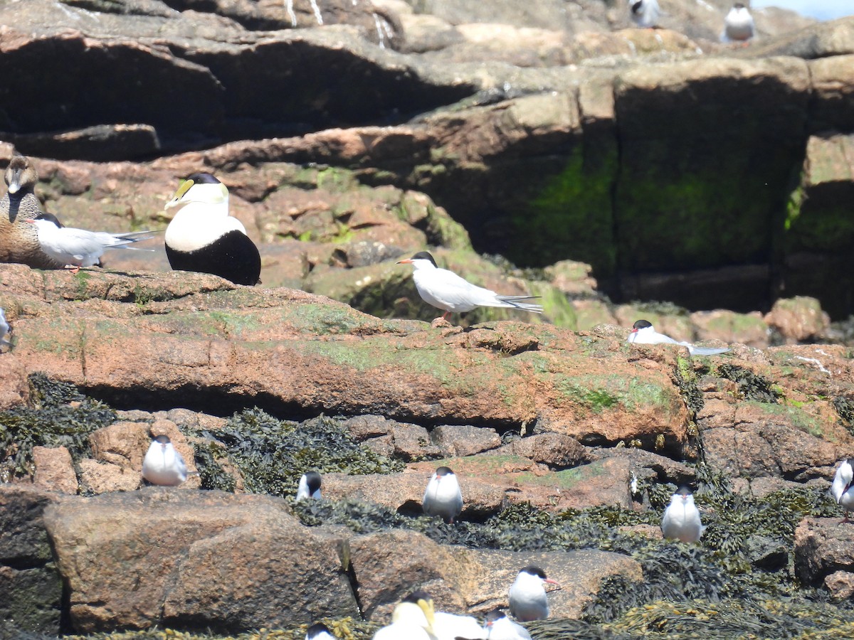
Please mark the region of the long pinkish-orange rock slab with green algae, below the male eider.
POLYGON ((120 404, 210 410, 260 397, 421 424, 536 421, 582 443, 664 437, 678 448, 686 435, 675 356, 639 362, 610 337, 513 322, 448 332, 294 289, 181 272, 73 276, 2 265, 0 280, 3 307, 26 310, 11 318, 9 358, 120 404))

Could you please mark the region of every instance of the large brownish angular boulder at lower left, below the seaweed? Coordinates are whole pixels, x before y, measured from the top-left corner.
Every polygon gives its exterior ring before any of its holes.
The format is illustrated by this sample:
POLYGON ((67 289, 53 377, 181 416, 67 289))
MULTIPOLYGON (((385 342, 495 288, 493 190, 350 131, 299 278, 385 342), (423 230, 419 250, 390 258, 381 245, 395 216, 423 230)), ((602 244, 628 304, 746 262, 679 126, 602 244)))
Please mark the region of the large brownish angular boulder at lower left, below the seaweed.
POLYGON ((54 503, 44 526, 80 632, 358 614, 341 543, 303 527, 280 498, 151 487, 54 503))

